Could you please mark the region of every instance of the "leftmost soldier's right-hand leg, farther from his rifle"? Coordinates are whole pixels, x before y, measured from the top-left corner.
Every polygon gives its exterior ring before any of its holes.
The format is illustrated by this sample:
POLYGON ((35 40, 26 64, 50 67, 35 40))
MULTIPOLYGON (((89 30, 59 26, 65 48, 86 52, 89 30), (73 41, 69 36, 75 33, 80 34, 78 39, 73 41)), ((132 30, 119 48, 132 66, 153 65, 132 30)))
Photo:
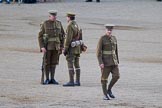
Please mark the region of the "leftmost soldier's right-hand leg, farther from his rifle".
POLYGON ((58 51, 57 50, 53 50, 52 54, 51 54, 51 64, 50 64, 50 72, 51 72, 51 81, 50 83, 52 84, 58 84, 58 82, 54 79, 54 75, 55 75, 55 69, 56 69, 56 65, 58 64, 58 51))

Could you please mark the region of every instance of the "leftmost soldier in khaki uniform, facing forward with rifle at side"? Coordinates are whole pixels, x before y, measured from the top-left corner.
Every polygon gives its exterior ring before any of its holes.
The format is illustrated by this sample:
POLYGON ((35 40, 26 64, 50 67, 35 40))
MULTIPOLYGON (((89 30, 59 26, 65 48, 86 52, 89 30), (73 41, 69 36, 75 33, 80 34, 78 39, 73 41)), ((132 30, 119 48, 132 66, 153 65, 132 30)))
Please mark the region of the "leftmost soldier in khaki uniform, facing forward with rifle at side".
POLYGON ((54 79, 54 75, 56 65, 59 63, 59 55, 62 53, 65 33, 61 22, 56 20, 56 15, 55 10, 49 11, 49 19, 43 22, 38 35, 40 51, 46 56, 46 80, 44 84, 58 84, 54 79), (43 40, 45 37, 47 38, 47 46, 45 46, 43 40), (51 79, 49 79, 49 73, 51 79))

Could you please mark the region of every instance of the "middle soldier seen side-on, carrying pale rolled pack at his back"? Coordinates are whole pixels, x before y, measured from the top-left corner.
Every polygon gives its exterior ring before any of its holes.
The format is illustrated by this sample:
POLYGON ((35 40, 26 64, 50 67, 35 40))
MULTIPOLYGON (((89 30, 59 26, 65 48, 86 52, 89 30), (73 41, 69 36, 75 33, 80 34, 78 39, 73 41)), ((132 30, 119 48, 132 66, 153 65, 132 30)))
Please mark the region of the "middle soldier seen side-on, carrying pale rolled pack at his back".
POLYGON ((63 86, 80 86, 80 65, 79 57, 81 54, 82 38, 79 36, 79 27, 75 21, 74 13, 67 13, 67 29, 64 43, 64 55, 66 56, 69 79, 70 81, 63 86), (72 45, 73 43, 79 42, 78 45, 72 45), (74 68, 75 67, 75 68, 74 68), (74 70, 75 69, 75 70, 74 70), (75 72, 74 72, 75 71, 75 72), (74 73, 76 73, 76 81, 74 83, 74 73))

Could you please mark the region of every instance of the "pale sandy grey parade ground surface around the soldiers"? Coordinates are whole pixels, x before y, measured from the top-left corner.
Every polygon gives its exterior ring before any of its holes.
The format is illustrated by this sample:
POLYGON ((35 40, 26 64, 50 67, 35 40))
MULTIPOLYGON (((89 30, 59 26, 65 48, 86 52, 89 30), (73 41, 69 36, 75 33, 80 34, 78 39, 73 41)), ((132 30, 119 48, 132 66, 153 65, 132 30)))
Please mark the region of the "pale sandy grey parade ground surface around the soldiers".
MULTIPOLYGON (((110 76, 111 78, 111 76, 110 76)), ((162 2, 156 0, 62 0, 36 4, 0 4, 0 108, 162 108, 162 2), (66 29, 66 12, 75 12, 88 50, 80 57, 81 86, 69 80, 60 56, 55 79, 41 85, 40 24, 48 10, 66 29), (102 100, 96 47, 104 24, 116 25, 120 79, 115 99, 102 100)))

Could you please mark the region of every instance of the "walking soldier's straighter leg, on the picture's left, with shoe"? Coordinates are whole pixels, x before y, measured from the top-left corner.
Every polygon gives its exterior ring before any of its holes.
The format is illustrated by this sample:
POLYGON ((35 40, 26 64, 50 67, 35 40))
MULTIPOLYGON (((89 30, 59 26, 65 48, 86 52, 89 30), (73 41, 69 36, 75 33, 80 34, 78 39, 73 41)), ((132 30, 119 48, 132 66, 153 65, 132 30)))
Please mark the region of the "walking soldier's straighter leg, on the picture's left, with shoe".
POLYGON ((105 66, 103 70, 101 70, 101 84, 102 84, 102 91, 104 94, 104 100, 109 100, 109 97, 107 96, 107 80, 108 76, 110 74, 110 68, 108 66, 105 66))

